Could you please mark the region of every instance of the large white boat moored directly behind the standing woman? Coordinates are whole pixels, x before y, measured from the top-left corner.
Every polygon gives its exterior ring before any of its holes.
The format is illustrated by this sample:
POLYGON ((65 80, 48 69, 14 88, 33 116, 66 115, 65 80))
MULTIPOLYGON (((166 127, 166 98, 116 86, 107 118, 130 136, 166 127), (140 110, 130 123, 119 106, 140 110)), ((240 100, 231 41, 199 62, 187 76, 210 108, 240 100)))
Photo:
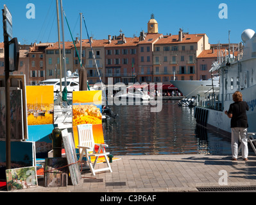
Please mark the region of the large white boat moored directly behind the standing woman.
POLYGON ((230 119, 224 112, 234 102, 232 94, 240 91, 243 101, 249 105, 248 131, 256 131, 256 35, 251 29, 246 29, 241 37, 243 42, 239 43, 237 57, 225 56, 225 59, 219 61, 218 70, 221 76, 216 101, 205 101, 201 103, 201 107, 195 108, 194 117, 198 124, 217 127, 230 133, 230 119))

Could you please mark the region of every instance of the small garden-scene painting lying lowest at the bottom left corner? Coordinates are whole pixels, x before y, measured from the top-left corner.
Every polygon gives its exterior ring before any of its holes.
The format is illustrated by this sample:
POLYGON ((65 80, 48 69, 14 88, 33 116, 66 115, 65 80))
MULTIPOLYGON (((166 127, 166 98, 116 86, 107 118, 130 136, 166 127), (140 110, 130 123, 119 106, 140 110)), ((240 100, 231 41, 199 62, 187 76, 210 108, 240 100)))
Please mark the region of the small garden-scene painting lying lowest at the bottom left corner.
POLYGON ((37 185, 35 167, 6 169, 6 186, 8 191, 33 188, 37 185))

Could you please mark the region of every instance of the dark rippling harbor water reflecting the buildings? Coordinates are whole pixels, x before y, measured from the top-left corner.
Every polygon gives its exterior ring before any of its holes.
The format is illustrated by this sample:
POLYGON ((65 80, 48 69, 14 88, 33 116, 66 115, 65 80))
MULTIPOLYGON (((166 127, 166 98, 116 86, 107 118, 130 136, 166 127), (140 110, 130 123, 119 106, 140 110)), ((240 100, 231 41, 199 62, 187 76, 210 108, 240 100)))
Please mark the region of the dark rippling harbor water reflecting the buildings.
POLYGON ((178 106, 178 101, 163 101, 160 112, 151 112, 151 105, 110 108, 118 117, 105 120, 103 132, 107 151, 115 156, 231 154, 230 136, 197 126, 194 108, 178 106))

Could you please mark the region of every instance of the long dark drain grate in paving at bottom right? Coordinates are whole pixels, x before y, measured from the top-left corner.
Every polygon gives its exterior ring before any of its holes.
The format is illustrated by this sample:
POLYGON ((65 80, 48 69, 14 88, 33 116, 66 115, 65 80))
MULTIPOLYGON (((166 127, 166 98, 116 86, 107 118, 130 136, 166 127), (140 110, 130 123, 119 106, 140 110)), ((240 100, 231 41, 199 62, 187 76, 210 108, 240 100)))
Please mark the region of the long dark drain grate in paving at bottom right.
POLYGON ((256 191, 256 186, 218 186, 218 187, 197 187, 199 192, 241 192, 256 191))

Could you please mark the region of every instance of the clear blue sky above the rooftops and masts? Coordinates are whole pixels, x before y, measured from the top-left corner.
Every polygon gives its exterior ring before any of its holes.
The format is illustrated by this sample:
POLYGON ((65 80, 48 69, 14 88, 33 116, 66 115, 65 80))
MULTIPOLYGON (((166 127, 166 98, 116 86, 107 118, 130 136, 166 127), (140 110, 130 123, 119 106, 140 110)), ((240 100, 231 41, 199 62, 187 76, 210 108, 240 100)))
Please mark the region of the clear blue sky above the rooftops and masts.
MULTIPOLYGON (((59 0, 60 3, 60 0, 59 0)), ((206 33, 210 44, 241 42, 244 29, 256 31, 256 1, 253 0, 62 0, 73 37, 80 37, 80 14, 83 13, 89 36, 107 39, 108 35, 119 35, 122 29, 126 37, 139 36, 147 31, 151 13, 158 22, 158 32, 166 35, 184 32, 206 33), (219 19, 219 4, 227 5, 228 18, 219 19)), ((13 19, 13 37, 21 44, 32 42, 57 42, 56 0, 3 0, 13 19), (28 19, 26 5, 35 5, 35 19, 28 19)), ((0 22, 3 28, 3 22, 0 22)), ((82 22, 82 38, 87 39, 82 22)), ((72 41, 64 19, 65 41, 72 41)), ((3 33, 3 29, 2 29, 3 33)), ((62 36, 61 36, 62 40, 62 36)), ((3 42, 3 35, 0 35, 3 42)))

